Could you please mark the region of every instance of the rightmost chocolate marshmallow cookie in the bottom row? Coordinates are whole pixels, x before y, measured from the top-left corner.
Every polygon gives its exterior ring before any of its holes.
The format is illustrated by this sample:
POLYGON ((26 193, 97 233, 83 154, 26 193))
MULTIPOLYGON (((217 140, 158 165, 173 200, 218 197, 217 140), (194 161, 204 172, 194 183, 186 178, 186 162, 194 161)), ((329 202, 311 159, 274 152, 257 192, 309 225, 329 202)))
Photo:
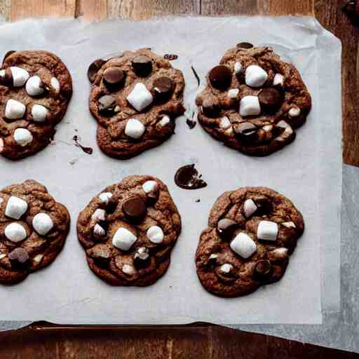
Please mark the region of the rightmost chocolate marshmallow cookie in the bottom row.
POLYGON ((282 278, 304 231, 301 213, 265 187, 242 187, 217 198, 196 252, 208 292, 238 297, 282 278))

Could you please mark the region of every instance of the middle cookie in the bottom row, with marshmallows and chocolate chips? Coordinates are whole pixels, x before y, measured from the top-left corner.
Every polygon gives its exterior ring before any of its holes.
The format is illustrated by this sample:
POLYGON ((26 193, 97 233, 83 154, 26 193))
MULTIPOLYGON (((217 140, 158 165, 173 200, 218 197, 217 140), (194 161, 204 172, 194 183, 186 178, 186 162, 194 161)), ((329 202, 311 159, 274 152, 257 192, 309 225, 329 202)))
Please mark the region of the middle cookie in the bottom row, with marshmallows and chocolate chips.
POLYGON ((167 270, 181 231, 168 188, 130 176, 105 188, 80 213, 77 236, 90 269, 114 285, 150 285, 167 270))

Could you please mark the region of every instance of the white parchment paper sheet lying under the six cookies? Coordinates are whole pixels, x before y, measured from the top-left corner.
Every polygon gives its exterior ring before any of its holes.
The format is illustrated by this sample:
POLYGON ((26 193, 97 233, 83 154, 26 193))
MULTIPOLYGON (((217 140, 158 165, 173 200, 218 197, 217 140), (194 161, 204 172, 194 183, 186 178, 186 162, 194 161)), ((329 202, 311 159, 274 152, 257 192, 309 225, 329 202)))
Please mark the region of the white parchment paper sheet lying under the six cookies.
POLYGON ((0 34, 1 53, 25 48, 53 51, 65 62, 74 81, 74 96, 64 120, 57 126, 56 144, 24 161, 1 160, 0 163, 3 187, 36 179, 46 184, 72 215, 72 230, 55 262, 19 285, 0 287, 1 319, 104 324, 195 320, 222 324, 314 324, 322 320, 321 286, 325 293, 323 304, 337 308, 340 43, 324 32, 316 20, 161 18, 102 24, 27 20, 1 25, 0 34), (326 39, 324 45, 320 39, 326 39), (239 41, 272 44, 297 66, 309 87, 313 109, 306 125, 297 131, 293 144, 272 156, 251 158, 212 140, 201 126, 189 130, 182 117, 177 120, 176 135, 168 142, 130 161, 114 160, 100 152, 95 144, 96 123, 88 111, 90 83, 86 71, 90 62, 123 49, 140 47, 179 55, 172 63, 184 72, 184 100, 191 113, 199 89, 190 65, 196 68, 203 85, 208 70, 219 62, 226 49, 239 41), (322 45, 326 46, 325 50, 322 45), (84 145, 94 148, 92 156, 74 147, 71 139, 75 134, 84 145), (187 191, 175 186, 175 171, 189 163, 196 163, 208 187, 187 191), (168 184, 182 215, 183 231, 172 252, 168 272, 155 285, 112 287, 88 269, 76 239, 75 223, 90 198, 108 184, 133 174, 156 175, 168 184), (194 252, 217 196, 245 185, 264 185, 291 198, 304 215, 306 231, 279 283, 262 287, 247 297, 221 299, 203 290, 198 282, 194 252), (200 203, 195 202, 198 198, 200 203), (330 285, 325 285, 328 282, 324 278, 330 278, 330 285))

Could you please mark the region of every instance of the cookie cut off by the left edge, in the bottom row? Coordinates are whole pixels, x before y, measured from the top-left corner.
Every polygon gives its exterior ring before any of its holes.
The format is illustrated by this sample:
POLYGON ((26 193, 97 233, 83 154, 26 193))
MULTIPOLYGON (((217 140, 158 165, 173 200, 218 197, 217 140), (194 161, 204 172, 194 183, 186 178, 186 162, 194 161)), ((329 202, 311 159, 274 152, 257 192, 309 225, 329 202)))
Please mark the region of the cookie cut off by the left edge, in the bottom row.
POLYGON ((0 283, 13 284, 57 257, 70 216, 46 187, 31 179, 0 191, 0 283))

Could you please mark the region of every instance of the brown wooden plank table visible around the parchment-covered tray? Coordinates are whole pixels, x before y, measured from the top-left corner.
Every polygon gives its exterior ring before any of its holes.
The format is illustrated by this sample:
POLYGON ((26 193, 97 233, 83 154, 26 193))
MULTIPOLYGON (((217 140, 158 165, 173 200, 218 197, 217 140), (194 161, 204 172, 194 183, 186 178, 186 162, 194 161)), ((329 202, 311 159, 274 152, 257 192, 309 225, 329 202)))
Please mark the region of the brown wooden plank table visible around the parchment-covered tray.
MULTIPOLYGON (((0 15, 15 21, 34 16, 79 15, 90 21, 135 20, 154 15, 315 15, 343 45, 344 162, 359 166, 359 30, 341 12, 341 0, 0 0, 0 15)), ((330 141, 330 139, 328 139, 330 141)), ((266 338, 212 325, 25 329, 0 334, 7 358, 358 358, 319 352, 314 346, 266 338), (280 354, 279 354, 280 353, 280 354), (305 353, 305 354, 304 354, 305 353), (276 356, 274 356, 276 355, 276 356), (277 356, 279 355, 279 356, 277 356)))

